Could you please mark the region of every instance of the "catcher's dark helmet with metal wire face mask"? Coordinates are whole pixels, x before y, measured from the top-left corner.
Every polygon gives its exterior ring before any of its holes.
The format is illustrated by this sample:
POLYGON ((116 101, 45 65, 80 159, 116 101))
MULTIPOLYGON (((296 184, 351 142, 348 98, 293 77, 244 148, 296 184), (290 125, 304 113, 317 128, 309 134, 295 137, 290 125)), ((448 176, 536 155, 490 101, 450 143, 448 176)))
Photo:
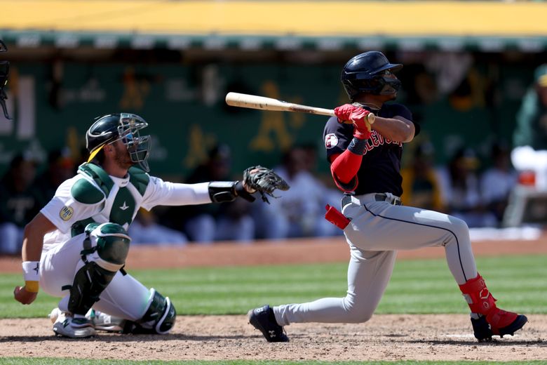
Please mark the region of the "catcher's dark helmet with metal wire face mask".
POLYGON ((148 156, 150 136, 139 134, 148 123, 135 114, 107 114, 95 119, 86 133, 86 147, 90 153, 88 161, 95 158, 104 145, 121 140, 126 145, 131 161, 144 171, 150 171, 148 156))

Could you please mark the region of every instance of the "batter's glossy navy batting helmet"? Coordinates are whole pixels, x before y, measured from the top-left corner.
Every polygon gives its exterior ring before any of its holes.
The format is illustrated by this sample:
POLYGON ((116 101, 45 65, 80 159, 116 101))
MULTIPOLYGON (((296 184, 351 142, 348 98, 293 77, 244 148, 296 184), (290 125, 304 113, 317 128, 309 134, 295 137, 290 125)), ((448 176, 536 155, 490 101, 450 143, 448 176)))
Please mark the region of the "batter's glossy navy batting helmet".
POLYGON ((401 68, 403 65, 390 63, 384 53, 369 51, 351 58, 340 78, 351 101, 359 93, 390 95, 399 90, 400 81, 384 77, 384 72, 398 72, 401 68))

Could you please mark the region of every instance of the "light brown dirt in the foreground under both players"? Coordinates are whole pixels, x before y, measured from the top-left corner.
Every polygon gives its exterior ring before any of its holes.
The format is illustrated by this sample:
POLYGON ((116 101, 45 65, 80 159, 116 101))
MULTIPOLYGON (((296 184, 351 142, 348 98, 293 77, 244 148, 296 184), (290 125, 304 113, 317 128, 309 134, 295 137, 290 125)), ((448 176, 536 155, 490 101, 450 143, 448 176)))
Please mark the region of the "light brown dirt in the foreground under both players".
POLYGON ((48 319, 0 321, 2 357, 132 360, 482 360, 547 359, 547 316, 533 315, 518 336, 477 343, 465 314, 377 315, 366 324, 292 324, 290 343, 266 343, 244 316, 181 316, 173 333, 52 336, 48 319), (77 343, 77 345, 76 345, 77 343))

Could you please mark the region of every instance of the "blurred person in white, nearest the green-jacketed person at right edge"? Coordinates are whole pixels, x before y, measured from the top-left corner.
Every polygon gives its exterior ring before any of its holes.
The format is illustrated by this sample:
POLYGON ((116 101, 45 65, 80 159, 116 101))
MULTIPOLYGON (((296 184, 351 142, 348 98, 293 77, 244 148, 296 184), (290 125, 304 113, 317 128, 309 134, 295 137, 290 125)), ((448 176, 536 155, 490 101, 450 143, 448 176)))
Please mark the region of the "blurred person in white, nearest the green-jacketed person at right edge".
POLYGON ((509 195, 517 184, 518 173, 511 166, 510 149, 507 145, 494 143, 490 156, 492 166, 482 173, 480 191, 486 208, 495 215, 498 225, 501 225, 509 195))

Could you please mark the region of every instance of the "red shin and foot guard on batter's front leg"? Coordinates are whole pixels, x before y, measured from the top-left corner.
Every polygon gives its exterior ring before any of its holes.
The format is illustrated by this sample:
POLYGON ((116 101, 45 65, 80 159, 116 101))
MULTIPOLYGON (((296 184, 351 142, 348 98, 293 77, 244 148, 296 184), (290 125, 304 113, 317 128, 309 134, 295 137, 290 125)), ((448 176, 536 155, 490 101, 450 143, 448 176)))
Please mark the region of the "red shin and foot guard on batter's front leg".
POLYGON ((480 274, 475 279, 466 281, 459 286, 461 293, 464 294, 471 312, 486 316, 486 321, 492 327, 494 335, 499 334, 499 328, 504 328, 517 319, 518 314, 506 312, 496 306, 496 298, 490 294, 486 287, 485 280, 480 274))

